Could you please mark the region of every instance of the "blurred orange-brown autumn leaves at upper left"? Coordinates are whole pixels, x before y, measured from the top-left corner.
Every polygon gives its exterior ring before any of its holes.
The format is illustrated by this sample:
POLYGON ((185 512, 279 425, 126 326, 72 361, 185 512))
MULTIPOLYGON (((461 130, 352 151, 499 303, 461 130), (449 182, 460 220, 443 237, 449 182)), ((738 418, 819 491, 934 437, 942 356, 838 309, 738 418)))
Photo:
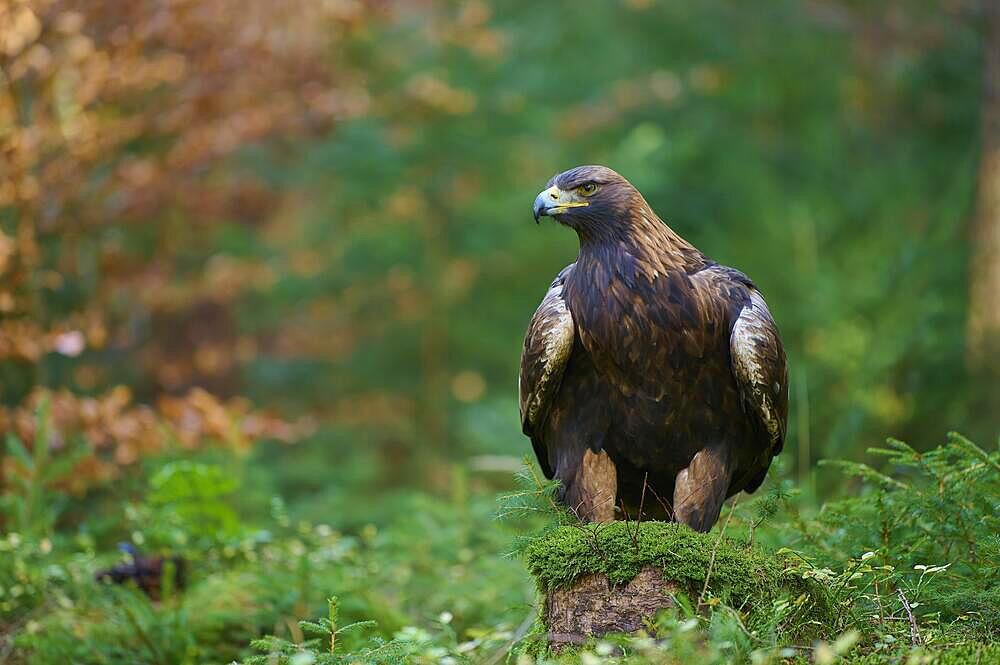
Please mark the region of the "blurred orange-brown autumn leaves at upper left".
MULTIPOLYGON (((331 66, 328 49, 377 11, 306 0, 0 3, 0 368, 17 377, 4 401, 25 395, 0 427, 33 445, 49 360, 75 363, 59 383, 97 396, 53 392, 44 444, 89 442, 75 489, 172 445, 244 449, 302 433, 197 387, 231 364, 212 360, 220 349, 248 345, 225 325, 200 351, 175 340, 198 344, 185 327, 228 302, 234 283, 255 282, 190 277, 178 257, 213 226, 261 223, 274 205, 274 192, 227 168, 233 153, 366 111, 363 79, 331 66), (129 355, 147 392, 178 396, 134 404, 107 368, 129 355)), ((3 459, 0 485, 15 466, 3 459)))

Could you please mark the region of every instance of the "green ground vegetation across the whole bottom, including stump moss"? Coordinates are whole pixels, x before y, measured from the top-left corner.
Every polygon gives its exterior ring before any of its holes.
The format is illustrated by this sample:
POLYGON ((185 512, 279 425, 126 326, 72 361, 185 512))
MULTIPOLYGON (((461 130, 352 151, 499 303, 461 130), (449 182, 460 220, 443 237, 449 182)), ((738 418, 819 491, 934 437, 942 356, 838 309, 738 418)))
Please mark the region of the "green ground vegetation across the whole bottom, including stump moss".
MULTIPOLYGON (((40 665, 474 663, 508 652, 524 662, 636 665, 988 659, 998 454, 957 435, 926 453, 899 442, 886 450, 884 470, 840 465, 860 485, 816 514, 785 481, 763 489, 732 510, 733 538, 657 522, 579 524, 530 467, 500 498, 499 524, 482 479, 456 468, 445 496, 385 496, 378 524, 344 533, 297 520, 281 500, 254 500, 269 484, 259 469, 246 473, 252 458, 151 461, 141 498, 118 504, 124 531, 94 522, 75 535, 0 539, 0 603, 14 620, 0 653, 40 665), (534 585, 504 556, 504 525, 518 532, 515 553, 542 591, 591 573, 624 582, 653 565, 680 587, 676 607, 645 634, 547 654, 534 585), (182 552, 187 587, 168 586, 154 602, 96 583, 116 538, 182 552), (784 549, 772 554, 771 543, 784 549)), ((65 500, 57 486, 42 492, 45 502, 65 500)))

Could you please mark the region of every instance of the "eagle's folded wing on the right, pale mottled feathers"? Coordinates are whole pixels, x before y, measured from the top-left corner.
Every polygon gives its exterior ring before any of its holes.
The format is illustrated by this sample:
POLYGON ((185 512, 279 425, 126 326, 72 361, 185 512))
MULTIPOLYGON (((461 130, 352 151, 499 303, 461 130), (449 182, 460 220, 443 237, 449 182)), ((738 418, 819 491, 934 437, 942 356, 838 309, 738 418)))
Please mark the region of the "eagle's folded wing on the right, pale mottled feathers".
POLYGON ((733 325, 729 348, 744 403, 770 439, 769 464, 785 443, 788 367, 778 327, 764 297, 753 287, 733 325))

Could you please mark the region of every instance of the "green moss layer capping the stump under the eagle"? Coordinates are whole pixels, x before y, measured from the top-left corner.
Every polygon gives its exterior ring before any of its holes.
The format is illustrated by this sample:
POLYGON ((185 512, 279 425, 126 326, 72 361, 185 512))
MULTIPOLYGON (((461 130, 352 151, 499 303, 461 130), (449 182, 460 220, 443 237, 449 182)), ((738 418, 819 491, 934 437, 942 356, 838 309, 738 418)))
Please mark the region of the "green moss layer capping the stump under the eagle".
POLYGON ((556 529, 531 543, 524 561, 545 593, 571 586, 584 575, 601 574, 624 584, 645 566, 663 570, 688 596, 701 595, 712 552, 708 590, 722 602, 754 614, 770 612, 782 598, 792 601, 796 623, 813 630, 832 623, 833 606, 820 585, 785 572, 775 555, 715 534, 697 533, 667 522, 610 522, 556 529), (717 546, 718 545, 718 546, 717 546))

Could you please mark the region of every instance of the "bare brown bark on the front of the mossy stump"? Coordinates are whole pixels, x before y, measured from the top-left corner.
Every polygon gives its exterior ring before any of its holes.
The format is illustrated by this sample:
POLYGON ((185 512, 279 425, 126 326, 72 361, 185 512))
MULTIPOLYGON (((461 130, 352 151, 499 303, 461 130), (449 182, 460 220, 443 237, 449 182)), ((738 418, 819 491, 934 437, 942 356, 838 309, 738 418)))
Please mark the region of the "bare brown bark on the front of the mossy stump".
POLYGON ((582 644, 588 637, 633 633, 662 609, 673 607, 676 584, 663 571, 646 566, 630 582, 613 585, 605 575, 586 575, 567 589, 545 597, 545 624, 555 648, 582 644))

